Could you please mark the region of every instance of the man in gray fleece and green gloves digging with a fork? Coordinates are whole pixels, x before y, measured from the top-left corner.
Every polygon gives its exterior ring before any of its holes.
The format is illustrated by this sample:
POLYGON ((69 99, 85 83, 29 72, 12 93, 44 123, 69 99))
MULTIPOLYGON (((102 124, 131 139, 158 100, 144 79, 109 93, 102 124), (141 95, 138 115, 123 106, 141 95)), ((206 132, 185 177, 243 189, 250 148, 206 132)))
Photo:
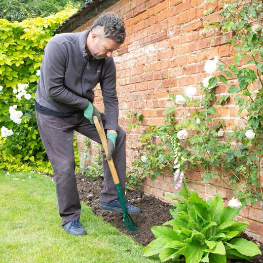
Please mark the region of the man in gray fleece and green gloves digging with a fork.
MULTIPOLYGON (((93 116, 102 119, 107 133, 108 159, 113 161, 125 192, 126 133, 118 125, 116 68, 112 53, 124 42, 122 20, 113 13, 101 15, 81 33, 63 33, 50 39, 45 47, 40 78, 35 96, 39 134, 52 164, 59 213, 64 229, 82 235, 86 231, 79 222, 80 201, 75 180, 73 150, 74 130, 101 143, 93 116), (100 83, 105 114, 92 104, 93 88, 100 83), (114 154, 114 155, 113 155, 114 154)), ((111 172, 106 160, 104 188, 100 208, 121 212, 111 172)), ((141 209, 126 200, 128 214, 141 209)))

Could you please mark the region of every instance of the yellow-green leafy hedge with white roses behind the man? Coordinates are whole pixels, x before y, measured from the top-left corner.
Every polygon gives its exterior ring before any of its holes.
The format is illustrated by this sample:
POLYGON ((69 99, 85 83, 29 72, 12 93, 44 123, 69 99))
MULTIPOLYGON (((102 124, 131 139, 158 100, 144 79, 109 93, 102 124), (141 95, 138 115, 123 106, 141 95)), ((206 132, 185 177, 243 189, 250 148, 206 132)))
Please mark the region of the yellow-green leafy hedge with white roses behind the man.
POLYGON ((38 134, 34 97, 44 47, 54 35, 53 30, 75 11, 68 8, 46 18, 27 19, 20 23, 0 19, 2 170, 52 171, 38 134))

